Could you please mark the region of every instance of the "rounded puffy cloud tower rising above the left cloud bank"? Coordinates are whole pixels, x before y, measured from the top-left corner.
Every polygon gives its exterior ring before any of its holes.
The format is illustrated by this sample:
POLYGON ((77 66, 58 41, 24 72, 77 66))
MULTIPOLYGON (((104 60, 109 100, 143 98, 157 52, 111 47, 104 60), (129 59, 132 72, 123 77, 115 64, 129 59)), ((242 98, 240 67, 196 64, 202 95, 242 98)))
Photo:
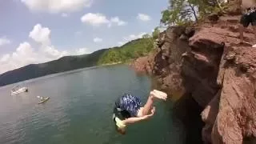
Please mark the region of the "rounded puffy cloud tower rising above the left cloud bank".
POLYGON ((50 29, 47 27, 42 27, 41 24, 34 26, 33 30, 30 31, 30 38, 34 39, 35 42, 42 44, 50 43, 50 29))

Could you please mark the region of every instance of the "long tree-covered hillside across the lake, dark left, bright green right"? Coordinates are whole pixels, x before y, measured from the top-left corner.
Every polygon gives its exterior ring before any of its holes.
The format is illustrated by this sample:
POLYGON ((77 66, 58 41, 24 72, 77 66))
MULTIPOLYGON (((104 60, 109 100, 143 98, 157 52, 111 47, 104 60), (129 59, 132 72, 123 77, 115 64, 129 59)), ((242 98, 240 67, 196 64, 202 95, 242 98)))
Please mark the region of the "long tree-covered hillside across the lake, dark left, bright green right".
POLYGON ((150 44, 150 42, 152 42, 150 38, 141 38, 120 47, 97 50, 92 54, 66 56, 58 60, 10 70, 0 75, 0 86, 69 70, 114 62, 126 62, 126 60, 138 58, 138 56, 148 53, 153 48, 153 43, 150 44), (148 43, 146 44, 146 42, 148 43), (149 46, 151 47, 149 48, 149 46))

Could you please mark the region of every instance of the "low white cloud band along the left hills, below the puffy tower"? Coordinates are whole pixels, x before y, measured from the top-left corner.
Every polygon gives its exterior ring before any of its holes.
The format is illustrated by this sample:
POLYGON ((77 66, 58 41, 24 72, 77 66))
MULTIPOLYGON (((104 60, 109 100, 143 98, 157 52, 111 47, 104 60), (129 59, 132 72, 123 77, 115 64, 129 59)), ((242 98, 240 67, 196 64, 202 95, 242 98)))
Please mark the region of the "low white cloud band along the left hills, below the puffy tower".
POLYGON ((22 42, 13 53, 4 54, 0 57, 0 74, 29 64, 49 62, 66 55, 81 55, 88 53, 86 48, 61 51, 54 46, 42 46, 38 49, 34 49, 30 43, 22 42))

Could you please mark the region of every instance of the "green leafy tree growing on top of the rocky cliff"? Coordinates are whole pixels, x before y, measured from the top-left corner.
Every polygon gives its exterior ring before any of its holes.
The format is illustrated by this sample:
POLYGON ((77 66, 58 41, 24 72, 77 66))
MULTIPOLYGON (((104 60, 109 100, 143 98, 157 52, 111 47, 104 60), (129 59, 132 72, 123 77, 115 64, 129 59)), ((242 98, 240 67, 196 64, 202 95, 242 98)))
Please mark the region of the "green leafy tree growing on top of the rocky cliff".
POLYGON ((165 26, 198 22, 206 14, 221 10, 218 0, 170 0, 170 6, 162 11, 160 22, 165 26))

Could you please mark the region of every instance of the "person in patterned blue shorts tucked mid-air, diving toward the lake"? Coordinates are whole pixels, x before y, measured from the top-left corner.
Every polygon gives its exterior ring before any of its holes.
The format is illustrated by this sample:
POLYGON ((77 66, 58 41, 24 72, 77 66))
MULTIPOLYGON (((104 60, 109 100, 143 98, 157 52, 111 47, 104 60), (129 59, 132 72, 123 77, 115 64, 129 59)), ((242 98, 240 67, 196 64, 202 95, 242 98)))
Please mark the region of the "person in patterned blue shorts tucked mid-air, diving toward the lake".
POLYGON ((140 98, 131 94, 123 94, 114 105, 113 121, 116 130, 120 134, 126 134, 126 126, 135 122, 141 122, 154 115, 155 99, 166 101, 167 94, 159 90, 150 91, 146 104, 142 106, 140 98))

